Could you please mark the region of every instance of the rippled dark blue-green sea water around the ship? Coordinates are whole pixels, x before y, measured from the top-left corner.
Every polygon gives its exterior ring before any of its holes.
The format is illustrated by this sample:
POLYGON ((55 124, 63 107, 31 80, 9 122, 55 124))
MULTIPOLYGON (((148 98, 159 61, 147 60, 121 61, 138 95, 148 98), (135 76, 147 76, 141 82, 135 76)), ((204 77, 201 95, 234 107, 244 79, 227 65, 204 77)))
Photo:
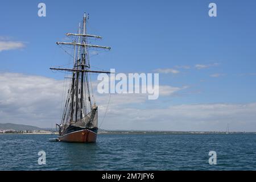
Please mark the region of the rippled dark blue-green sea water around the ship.
POLYGON ((48 142, 55 137, 0 135, 0 170, 256 170, 255 134, 101 134, 97 143, 48 142), (217 165, 209 164, 209 151, 217 152, 217 165))

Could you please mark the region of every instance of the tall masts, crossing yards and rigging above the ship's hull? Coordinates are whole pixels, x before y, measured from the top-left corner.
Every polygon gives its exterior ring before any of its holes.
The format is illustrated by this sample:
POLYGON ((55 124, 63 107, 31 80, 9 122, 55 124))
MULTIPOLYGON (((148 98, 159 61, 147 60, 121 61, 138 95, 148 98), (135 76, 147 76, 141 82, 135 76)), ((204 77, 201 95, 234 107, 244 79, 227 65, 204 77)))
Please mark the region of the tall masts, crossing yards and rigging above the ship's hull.
MULTIPOLYGON (((110 49, 110 47, 107 46, 98 46, 93 44, 87 43, 87 38, 96 38, 96 39, 102 39, 101 36, 97 35, 90 35, 86 32, 86 15, 84 14, 83 20, 82 20, 82 31, 79 23, 79 31, 77 34, 73 33, 67 33, 67 36, 77 36, 78 41, 74 40, 73 42, 56 42, 57 45, 71 45, 74 48, 74 64, 73 68, 50 68, 54 70, 59 71, 68 71, 72 72, 72 82, 71 82, 71 89, 69 90, 69 96, 66 101, 66 105, 64 108, 63 113, 63 121, 61 123, 65 122, 65 119, 68 119, 69 115, 69 125, 71 125, 74 122, 79 121, 84 117, 84 107, 86 109, 86 104, 84 105, 84 100, 86 100, 86 90, 88 90, 88 100, 90 101, 90 90, 89 90, 89 84, 88 84, 88 72, 92 73, 110 73, 105 71, 91 71, 89 68, 89 52, 88 48, 103 48, 103 49, 110 49), (86 84, 84 82, 86 81, 86 84), (69 109, 68 109, 68 106, 69 109), (68 113, 67 113, 68 112, 68 113), (75 119, 74 119, 75 114, 75 119), (66 117, 65 117, 66 116, 66 117)), ((86 102, 85 102, 86 103, 86 102)), ((92 110, 92 104, 90 103, 90 110, 92 110)))

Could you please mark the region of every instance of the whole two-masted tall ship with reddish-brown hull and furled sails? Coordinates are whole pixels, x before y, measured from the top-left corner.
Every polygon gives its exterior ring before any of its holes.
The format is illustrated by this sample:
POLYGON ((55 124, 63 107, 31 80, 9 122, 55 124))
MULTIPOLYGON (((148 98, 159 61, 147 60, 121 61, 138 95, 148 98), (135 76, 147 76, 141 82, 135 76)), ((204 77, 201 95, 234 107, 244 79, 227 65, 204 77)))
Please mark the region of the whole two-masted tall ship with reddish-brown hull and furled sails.
POLYGON ((92 103, 92 84, 90 73, 110 73, 107 71, 90 70, 89 49, 109 49, 106 46, 88 44, 88 39, 101 39, 101 36, 90 35, 86 32, 88 15, 84 14, 82 27, 76 34, 67 33, 72 42, 56 42, 57 45, 71 46, 73 49, 73 68, 50 68, 57 71, 70 72, 70 86, 65 100, 63 114, 59 127, 61 142, 96 142, 98 131, 98 107, 92 103))

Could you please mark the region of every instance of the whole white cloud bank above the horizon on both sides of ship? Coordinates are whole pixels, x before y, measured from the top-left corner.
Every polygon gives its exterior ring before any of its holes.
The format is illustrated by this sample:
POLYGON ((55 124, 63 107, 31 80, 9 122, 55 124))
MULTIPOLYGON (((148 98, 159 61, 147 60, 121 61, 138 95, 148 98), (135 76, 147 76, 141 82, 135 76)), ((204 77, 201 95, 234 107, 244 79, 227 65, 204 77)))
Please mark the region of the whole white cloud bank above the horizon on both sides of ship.
MULTIPOLYGON (((63 80, 0 73, 0 122, 51 127, 59 123, 63 80)), ((67 84, 68 85, 68 84, 67 84)), ((97 83, 93 82, 94 87, 97 83)), ((170 97, 181 88, 160 85, 160 96, 170 97)), ((66 90, 67 91, 67 90, 66 90)), ((64 89, 65 93, 65 89, 64 89)), ((102 121, 109 94, 94 91, 102 121)), ((112 94, 103 129, 173 131, 256 131, 256 103, 160 105, 146 94, 112 94)), ((63 104, 63 103, 62 103, 63 104)))

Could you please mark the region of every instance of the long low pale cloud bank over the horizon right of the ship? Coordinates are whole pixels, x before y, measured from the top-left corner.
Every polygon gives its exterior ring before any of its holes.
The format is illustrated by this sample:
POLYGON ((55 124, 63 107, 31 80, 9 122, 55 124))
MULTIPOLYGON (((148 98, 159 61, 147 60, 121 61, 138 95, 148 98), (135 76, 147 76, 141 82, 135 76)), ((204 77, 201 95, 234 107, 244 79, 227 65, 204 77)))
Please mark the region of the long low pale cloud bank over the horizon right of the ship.
POLYGON ((191 104, 167 109, 123 108, 109 111, 106 129, 172 131, 256 131, 256 103, 191 104), (124 117, 125 116, 125 117, 124 117))

